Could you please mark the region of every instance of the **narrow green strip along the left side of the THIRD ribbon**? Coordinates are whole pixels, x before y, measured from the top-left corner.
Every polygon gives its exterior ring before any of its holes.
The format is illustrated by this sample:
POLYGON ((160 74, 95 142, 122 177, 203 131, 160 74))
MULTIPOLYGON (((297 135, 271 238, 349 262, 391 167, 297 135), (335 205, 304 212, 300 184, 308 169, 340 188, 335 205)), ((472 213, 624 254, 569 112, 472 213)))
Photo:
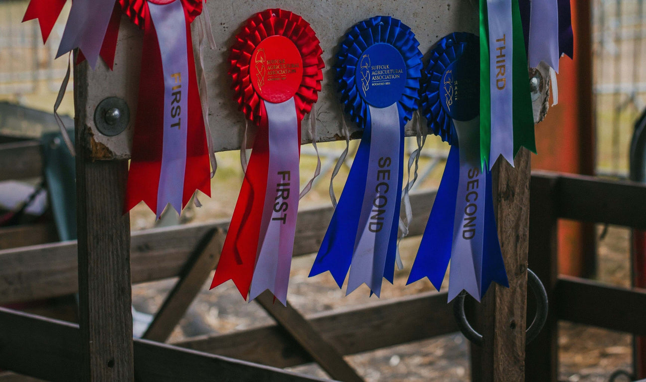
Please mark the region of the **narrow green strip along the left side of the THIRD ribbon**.
POLYGON ((480 165, 483 171, 485 168, 489 168, 489 148, 491 146, 489 25, 487 17, 486 0, 480 0, 480 165))

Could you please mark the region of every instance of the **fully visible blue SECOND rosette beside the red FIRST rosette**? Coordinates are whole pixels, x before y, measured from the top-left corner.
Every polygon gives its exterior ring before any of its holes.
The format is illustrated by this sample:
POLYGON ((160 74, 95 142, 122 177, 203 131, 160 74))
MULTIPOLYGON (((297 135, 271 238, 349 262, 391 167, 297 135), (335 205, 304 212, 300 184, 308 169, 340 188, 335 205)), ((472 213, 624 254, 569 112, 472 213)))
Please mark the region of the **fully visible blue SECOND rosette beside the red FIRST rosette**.
POLYGON ((410 28, 377 16, 353 26, 337 52, 344 110, 364 129, 309 276, 329 271, 349 294, 392 283, 401 205, 404 125, 417 108, 422 54, 410 28))

